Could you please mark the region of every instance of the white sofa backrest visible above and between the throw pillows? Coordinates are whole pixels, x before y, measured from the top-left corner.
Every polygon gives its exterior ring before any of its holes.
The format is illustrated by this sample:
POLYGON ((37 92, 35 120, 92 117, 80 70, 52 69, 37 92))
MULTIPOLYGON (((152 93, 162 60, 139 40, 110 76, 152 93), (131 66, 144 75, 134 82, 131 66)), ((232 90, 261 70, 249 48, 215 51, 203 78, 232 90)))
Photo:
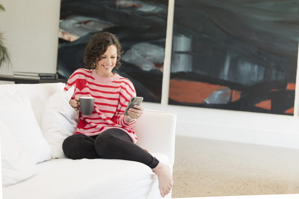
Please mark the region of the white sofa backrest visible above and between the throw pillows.
POLYGON ((0 85, 0 97, 13 95, 17 90, 21 91, 30 101, 35 118, 41 126, 42 110, 48 98, 57 91, 63 91, 64 83, 51 84, 5 84, 0 85))

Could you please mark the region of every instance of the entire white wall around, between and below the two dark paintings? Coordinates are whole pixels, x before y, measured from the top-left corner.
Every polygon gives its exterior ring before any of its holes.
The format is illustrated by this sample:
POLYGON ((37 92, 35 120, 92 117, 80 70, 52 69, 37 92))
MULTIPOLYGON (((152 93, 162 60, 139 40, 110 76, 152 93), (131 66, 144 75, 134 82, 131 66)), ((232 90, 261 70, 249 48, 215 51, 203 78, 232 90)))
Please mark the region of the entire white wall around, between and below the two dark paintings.
MULTIPOLYGON (((7 11, 0 13, 0 27, 12 54, 14 71, 55 72, 60 1, 9 0, 1 3, 7 11)), ((295 95, 296 116, 167 105, 173 10, 174 1, 170 0, 162 102, 144 102, 144 108, 176 111, 177 135, 299 149, 299 86, 295 95)))

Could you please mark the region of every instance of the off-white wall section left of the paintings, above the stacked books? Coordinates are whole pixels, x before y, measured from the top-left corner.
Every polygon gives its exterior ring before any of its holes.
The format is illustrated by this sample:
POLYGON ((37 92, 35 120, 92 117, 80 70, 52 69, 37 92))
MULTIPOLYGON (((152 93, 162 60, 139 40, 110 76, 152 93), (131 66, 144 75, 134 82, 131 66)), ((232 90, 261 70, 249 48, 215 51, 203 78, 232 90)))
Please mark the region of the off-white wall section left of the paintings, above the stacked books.
POLYGON ((60 0, 8 0, 1 4, 6 12, 0 13, 0 30, 13 71, 56 73, 60 0))

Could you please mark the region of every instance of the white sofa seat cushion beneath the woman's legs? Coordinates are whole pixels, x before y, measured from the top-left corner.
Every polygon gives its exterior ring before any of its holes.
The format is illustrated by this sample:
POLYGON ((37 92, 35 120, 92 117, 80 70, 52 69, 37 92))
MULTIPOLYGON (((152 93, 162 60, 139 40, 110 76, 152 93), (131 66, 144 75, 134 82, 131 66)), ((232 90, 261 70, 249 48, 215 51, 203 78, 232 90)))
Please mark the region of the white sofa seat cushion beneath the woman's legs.
MULTIPOLYGON (((167 155, 152 155, 170 165, 167 155)), ((38 163, 37 170, 32 178, 4 187, 3 198, 161 198, 157 175, 135 161, 52 159, 38 163)))

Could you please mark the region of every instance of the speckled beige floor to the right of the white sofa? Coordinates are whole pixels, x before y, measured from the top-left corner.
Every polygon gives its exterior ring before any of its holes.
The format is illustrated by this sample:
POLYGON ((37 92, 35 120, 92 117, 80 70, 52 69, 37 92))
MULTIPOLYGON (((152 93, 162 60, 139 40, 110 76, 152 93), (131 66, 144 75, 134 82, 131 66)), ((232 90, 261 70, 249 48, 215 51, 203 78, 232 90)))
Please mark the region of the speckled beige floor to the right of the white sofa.
POLYGON ((176 136, 173 181, 173 198, 299 193, 299 150, 176 136))

